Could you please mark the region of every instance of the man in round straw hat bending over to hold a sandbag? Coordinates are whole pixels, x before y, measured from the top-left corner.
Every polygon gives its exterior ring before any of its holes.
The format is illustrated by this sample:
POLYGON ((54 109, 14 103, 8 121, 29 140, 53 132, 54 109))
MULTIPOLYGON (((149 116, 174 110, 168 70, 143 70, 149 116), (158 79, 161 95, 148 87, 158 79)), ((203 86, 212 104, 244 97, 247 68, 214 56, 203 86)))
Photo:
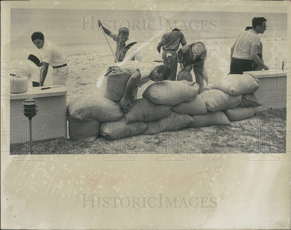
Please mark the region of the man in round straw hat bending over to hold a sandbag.
POLYGON ((206 57, 207 50, 202 42, 185 45, 178 51, 178 62, 180 63, 181 69, 191 71, 193 68, 195 81, 200 87, 198 94, 203 93, 203 79, 208 84, 208 75, 204 64, 206 57))

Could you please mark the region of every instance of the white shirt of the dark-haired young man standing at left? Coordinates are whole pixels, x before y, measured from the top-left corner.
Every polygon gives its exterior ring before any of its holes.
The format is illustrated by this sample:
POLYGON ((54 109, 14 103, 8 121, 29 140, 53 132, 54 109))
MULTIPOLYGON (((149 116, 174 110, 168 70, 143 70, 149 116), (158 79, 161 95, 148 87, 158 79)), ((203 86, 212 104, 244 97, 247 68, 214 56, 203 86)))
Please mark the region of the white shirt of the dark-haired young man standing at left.
POLYGON ((42 61, 49 63, 50 66, 60 66, 67 63, 67 57, 54 42, 45 39, 41 50, 42 61))

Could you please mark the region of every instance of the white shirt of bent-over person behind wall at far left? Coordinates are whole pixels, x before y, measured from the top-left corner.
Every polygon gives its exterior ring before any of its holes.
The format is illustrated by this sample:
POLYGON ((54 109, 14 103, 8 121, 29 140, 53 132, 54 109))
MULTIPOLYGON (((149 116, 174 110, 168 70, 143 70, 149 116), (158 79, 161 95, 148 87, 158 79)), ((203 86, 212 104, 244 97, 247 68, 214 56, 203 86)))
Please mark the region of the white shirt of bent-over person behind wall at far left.
POLYGON ((34 82, 39 82, 40 80, 40 69, 31 60, 12 60, 9 67, 11 68, 11 73, 16 76, 24 76, 34 82))

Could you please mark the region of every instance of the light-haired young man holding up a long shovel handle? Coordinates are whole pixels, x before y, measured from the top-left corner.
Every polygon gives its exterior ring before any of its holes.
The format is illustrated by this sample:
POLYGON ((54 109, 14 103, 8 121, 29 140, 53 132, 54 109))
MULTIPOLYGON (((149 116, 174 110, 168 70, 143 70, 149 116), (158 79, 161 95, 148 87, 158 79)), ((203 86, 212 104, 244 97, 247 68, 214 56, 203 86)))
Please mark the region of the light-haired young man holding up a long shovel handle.
MULTIPOLYGON (((102 26, 102 22, 100 20, 98 20, 98 26, 102 27, 104 33, 106 33, 109 37, 113 38, 113 40, 116 41, 115 62, 122 62, 125 56, 125 53, 123 53, 123 50, 126 47, 125 42, 128 40, 129 30, 126 27, 120 27, 118 29, 118 34, 113 34, 109 29, 102 26)), ((110 44, 109 44, 109 47, 111 48, 110 44)))

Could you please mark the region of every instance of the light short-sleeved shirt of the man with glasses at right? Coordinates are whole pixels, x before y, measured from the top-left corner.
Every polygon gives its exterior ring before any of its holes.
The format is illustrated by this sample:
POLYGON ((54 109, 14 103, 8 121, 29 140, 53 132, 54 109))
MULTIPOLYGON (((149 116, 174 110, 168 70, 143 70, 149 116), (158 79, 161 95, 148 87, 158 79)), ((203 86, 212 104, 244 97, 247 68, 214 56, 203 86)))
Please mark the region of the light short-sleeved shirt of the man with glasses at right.
POLYGON ((233 57, 238 59, 252 60, 251 46, 260 45, 260 37, 255 30, 247 30, 240 33, 235 41, 233 57))

